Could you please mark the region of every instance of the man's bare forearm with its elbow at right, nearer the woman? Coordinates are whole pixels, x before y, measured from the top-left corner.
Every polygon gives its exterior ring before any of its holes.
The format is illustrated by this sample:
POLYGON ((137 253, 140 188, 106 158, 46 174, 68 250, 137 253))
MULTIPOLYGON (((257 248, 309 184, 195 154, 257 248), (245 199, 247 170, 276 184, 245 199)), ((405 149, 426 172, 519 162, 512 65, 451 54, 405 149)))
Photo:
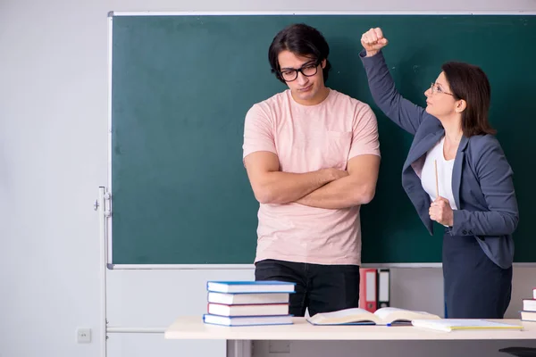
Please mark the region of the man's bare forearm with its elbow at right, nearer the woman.
POLYGON ((306 206, 339 210, 365 204, 372 201, 375 185, 356 183, 356 179, 346 178, 331 181, 310 194, 297 200, 297 203, 306 206))

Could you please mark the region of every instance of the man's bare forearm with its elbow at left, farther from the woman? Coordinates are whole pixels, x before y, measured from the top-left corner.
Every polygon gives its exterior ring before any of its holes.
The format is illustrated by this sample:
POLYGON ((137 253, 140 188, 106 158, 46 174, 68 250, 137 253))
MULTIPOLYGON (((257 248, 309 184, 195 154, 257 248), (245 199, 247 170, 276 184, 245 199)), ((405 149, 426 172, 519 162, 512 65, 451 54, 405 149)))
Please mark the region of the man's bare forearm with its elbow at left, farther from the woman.
POLYGON ((340 174, 334 169, 317 170, 306 173, 272 171, 255 191, 260 203, 291 203, 312 193, 319 187, 338 179, 340 174))

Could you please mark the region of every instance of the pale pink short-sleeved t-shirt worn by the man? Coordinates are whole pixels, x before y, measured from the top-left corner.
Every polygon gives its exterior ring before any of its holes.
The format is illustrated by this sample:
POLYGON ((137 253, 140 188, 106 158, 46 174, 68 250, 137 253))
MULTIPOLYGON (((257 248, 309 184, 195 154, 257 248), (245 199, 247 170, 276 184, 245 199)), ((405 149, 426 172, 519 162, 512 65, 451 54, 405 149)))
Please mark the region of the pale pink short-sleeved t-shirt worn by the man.
MULTIPOLYGON (((380 155, 376 116, 368 104, 330 90, 316 105, 297 104, 290 90, 253 105, 244 153, 277 154, 280 170, 346 170, 357 155, 380 155)), ((255 262, 361 264, 360 206, 342 210, 299 203, 260 204, 255 262)))

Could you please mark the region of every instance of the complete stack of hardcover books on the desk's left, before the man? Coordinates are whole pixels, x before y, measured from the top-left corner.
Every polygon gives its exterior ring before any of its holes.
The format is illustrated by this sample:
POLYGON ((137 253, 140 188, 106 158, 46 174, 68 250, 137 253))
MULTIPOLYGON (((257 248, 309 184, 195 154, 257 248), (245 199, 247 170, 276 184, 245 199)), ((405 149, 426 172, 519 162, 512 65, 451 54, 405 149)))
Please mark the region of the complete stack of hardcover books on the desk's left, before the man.
POLYGON ((289 296, 295 285, 286 281, 209 281, 203 321, 223 326, 291 324, 289 296))

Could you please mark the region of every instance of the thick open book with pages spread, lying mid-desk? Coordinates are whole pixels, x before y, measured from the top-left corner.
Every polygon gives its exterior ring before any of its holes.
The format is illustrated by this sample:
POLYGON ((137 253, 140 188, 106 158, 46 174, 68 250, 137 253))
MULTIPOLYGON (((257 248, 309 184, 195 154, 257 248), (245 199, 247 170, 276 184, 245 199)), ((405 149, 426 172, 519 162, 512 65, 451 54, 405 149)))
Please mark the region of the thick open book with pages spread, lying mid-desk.
POLYGON ((382 307, 374 313, 361 308, 317 313, 307 321, 313 325, 410 325, 412 320, 440 320, 437 315, 424 311, 411 311, 396 307, 382 307))

